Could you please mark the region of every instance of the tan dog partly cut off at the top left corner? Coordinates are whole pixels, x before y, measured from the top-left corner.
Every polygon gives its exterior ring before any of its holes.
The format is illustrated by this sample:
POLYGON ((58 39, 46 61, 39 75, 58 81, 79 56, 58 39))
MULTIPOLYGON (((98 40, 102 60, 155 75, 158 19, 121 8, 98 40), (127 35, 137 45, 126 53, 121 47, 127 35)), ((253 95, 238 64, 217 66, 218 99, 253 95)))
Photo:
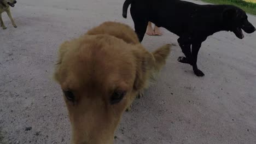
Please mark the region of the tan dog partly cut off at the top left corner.
POLYGON ((13 23, 13 27, 17 27, 14 20, 13 20, 13 16, 11 16, 10 13, 10 6, 14 7, 15 3, 17 3, 17 1, 15 0, 0 0, 0 23, 1 23, 1 27, 3 29, 6 29, 7 27, 4 26, 3 23, 3 19, 2 19, 2 13, 5 11, 7 13, 7 15, 9 16, 11 23, 13 23))

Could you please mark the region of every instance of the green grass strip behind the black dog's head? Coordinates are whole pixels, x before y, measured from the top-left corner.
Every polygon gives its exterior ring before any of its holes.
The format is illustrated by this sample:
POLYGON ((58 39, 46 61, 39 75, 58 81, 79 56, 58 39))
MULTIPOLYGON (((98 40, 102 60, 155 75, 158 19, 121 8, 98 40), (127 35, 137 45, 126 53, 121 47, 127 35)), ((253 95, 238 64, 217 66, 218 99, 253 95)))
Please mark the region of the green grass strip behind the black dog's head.
POLYGON ((235 5, 247 13, 256 15, 256 2, 253 0, 250 2, 242 1, 242 0, 202 0, 203 2, 213 3, 213 4, 231 4, 235 5))

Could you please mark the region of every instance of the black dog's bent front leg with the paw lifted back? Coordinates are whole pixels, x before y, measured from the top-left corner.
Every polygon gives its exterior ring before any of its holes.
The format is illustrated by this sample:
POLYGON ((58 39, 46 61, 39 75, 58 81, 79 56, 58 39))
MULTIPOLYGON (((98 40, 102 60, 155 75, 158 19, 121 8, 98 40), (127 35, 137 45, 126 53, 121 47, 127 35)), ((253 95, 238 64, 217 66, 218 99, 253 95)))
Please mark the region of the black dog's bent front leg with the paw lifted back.
POLYGON ((178 61, 181 63, 188 63, 192 65, 192 56, 191 56, 191 48, 190 44, 184 43, 184 41, 179 38, 178 39, 179 46, 182 49, 182 52, 184 53, 185 57, 179 57, 178 61))

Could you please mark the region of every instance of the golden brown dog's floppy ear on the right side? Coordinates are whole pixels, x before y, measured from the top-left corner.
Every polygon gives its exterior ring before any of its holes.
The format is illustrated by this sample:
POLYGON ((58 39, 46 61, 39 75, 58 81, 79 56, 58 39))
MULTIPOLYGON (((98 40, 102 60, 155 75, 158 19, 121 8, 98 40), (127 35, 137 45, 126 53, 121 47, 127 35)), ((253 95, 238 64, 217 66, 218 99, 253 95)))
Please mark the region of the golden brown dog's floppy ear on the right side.
POLYGON ((155 59, 152 53, 148 52, 141 44, 135 45, 133 54, 136 59, 136 77, 133 83, 133 89, 138 91, 147 84, 149 71, 154 68, 155 59))

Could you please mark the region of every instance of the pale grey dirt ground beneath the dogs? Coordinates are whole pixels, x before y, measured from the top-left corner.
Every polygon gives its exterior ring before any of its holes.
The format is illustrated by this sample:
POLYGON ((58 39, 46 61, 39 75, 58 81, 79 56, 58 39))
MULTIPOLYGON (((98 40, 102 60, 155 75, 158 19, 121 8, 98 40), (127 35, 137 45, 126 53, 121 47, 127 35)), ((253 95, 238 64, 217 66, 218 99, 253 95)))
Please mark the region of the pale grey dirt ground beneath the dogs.
MULTIPOLYGON (((68 143, 66 107, 51 80, 58 46, 103 21, 133 27, 122 7, 119 0, 22 0, 12 9, 16 29, 3 14, 8 29, 0 29, 0 143, 68 143)), ((255 16, 249 21, 256 26, 255 16)), ((177 44, 176 35, 162 30, 143 45, 154 50, 177 44)), ((255 40, 256 33, 243 40, 231 32, 208 37, 199 52, 202 78, 177 62, 182 52, 173 46, 158 81, 124 114, 115 143, 256 143, 255 40)))

